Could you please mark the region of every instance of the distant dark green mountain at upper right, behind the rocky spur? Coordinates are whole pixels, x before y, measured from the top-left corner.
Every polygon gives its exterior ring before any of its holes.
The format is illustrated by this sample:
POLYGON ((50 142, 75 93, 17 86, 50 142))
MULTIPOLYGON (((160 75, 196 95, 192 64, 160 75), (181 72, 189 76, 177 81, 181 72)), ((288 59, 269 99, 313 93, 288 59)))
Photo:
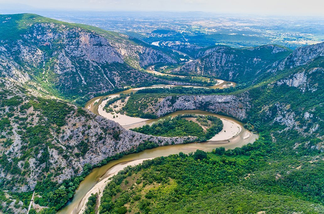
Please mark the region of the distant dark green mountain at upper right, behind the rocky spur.
POLYGON ((238 83, 260 83, 324 55, 324 43, 296 48, 293 52, 277 45, 249 49, 226 46, 200 48, 195 45, 175 46, 190 50, 196 60, 174 69, 174 73, 208 75, 238 83))

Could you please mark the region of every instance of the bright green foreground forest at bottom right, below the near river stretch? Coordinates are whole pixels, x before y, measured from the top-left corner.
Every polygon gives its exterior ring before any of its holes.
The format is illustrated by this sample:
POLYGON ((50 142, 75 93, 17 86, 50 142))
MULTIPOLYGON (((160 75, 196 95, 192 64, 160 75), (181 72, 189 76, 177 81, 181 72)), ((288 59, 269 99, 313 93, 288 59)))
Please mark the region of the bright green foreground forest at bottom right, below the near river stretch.
POLYGON ((258 140, 238 149, 240 155, 232 149, 219 149, 223 154, 197 150, 194 154, 180 152, 126 167, 107 185, 99 213, 118 213, 116 210, 121 208, 146 214, 180 213, 179 210, 223 214, 322 213, 323 196, 320 188, 313 186, 322 179, 309 176, 313 170, 322 174, 319 170, 324 161, 309 164, 289 156, 269 164, 271 159, 258 152, 268 146, 267 141, 258 140), (300 164, 305 167, 299 169, 300 164), (283 173, 286 171, 290 173, 283 173), (298 183, 298 188, 292 183, 298 183), (307 190, 309 184, 314 192, 307 190))

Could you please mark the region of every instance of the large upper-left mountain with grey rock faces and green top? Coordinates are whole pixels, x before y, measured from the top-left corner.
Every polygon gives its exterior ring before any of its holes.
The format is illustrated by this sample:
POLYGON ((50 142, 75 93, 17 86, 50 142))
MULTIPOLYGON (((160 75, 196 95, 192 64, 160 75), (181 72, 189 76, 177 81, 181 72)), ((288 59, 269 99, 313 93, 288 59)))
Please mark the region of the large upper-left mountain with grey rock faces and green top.
POLYGON ((71 98, 154 81, 137 69, 176 63, 129 36, 34 14, 1 15, 0 29, 2 75, 35 82, 56 96, 71 98))

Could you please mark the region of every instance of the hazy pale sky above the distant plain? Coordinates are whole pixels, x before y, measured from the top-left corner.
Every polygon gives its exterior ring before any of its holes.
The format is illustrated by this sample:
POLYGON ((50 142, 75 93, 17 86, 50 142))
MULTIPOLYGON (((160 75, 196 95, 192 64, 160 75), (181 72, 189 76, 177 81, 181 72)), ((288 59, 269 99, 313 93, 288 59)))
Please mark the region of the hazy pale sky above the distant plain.
POLYGON ((323 16, 323 0, 0 0, 46 9, 204 11, 323 16))

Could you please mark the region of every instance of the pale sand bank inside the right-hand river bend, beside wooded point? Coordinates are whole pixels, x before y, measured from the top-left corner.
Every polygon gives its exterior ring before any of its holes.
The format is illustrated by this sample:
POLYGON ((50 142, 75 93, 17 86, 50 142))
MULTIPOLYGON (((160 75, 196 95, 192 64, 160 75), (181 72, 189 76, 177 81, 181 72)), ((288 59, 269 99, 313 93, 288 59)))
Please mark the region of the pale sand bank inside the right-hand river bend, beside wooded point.
POLYGON ((221 120, 223 121, 224 124, 222 131, 220 131, 218 134, 216 134, 208 141, 227 140, 237 136, 242 131, 242 127, 237 123, 234 123, 233 121, 226 120, 226 119, 221 119, 221 120))

